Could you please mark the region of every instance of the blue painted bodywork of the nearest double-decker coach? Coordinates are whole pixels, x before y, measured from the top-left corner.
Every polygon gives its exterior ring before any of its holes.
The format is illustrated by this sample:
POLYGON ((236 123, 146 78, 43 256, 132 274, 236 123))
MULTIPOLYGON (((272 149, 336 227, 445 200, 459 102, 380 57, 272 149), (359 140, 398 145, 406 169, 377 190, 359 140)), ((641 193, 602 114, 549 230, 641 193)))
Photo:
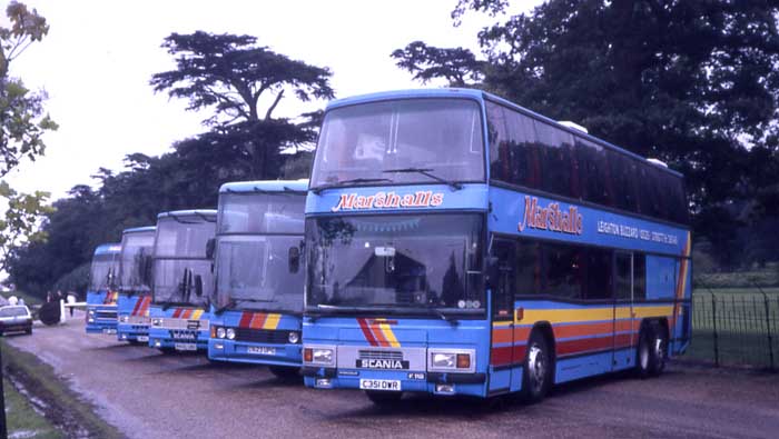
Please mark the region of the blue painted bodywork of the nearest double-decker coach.
MULTIPOLYGON (((358 96, 354 98, 339 99, 332 101, 327 106, 327 110, 342 108, 352 104, 367 103, 383 100, 394 99, 416 99, 416 98, 462 98, 472 99, 480 103, 484 109, 484 100, 489 99, 509 108, 513 108, 526 114, 531 114, 548 123, 551 123, 562 130, 575 133, 579 137, 588 139, 605 148, 621 151, 628 156, 644 160, 630 151, 625 151, 614 144, 594 138, 589 134, 574 130, 569 127, 559 124, 556 121, 534 113, 527 109, 519 107, 502 98, 489 94, 479 90, 465 89, 427 89, 427 90, 402 90, 393 92, 373 93, 358 96)), ((483 111, 483 136, 489 139, 486 113, 483 111)), ((485 140, 485 160, 490 162, 490 146, 485 140)), ((674 176, 681 176, 679 172, 664 168, 662 166, 648 162, 664 172, 670 172, 674 176)), ((490 169, 486 167, 487 179, 490 169)), ((346 214, 368 214, 368 213, 428 213, 428 212, 461 212, 461 211, 484 211, 486 213, 487 236, 492 233, 501 233, 509 237, 529 237, 543 240, 556 240, 560 242, 573 242, 580 245, 602 246, 617 249, 635 250, 649 253, 647 257, 648 268, 647 278, 652 279, 648 283, 649 299, 673 299, 677 291, 677 276, 680 272, 679 262, 676 258, 686 256, 686 246, 688 245, 689 231, 686 227, 672 225, 668 222, 659 222, 648 218, 643 218, 630 212, 619 212, 603 210, 592 204, 580 203, 578 200, 558 200, 549 198, 549 196, 536 193, 523 193, 513 190, 503 189, 500 187, 489 186, 485 183, 469 183, 463 184, 460 191, 452 190, 446 184, 407 184, 407 186, 355 186, 331 188, 314 193, 309 191, 306 199, 306 217, 312 216, 346 216, 346 214), (415 206, 413 208, 403 207, 386 207, 383 202, 376 204, 376 198, 386 199, 387 193, 394 192, 397 196, 416 194, 417 192, 431 191, 442 194, 442 202, 436 206, 415 206), (349 199, 351 196, 354 198, 349 199), (359 198, 362 197, 362 198, 359 198), (359 201, 358 201, 359 198, 359 201), (575 208, 576 216, 581 216, 581 230, 572 232, 568 230, 551 231, 538 227, 529 227, 525 219, 525 206, 533 199, 538 200, 536 206, 541 208, 550 208, 550 204, 556 203, 559 211, 570 212, 571 208, 575 208), (351 201, 351 208, 344 208, 345 202, 351 201), (521 227, 522 226, 522 227, 521 227), (662 258, 662 256, 673 257, 674 259, 662 258), (663 260, 671 261, 670 265, 663 260), (676 267, 674 267, 676 265, 676 267), (657 270, 673 270, 671 277, 665 280, 662 276, 662 281, 659 279, 660 273, 657 270)), ((689 253, 688 253, 689 255, 689 253)), ((668 271, 664 271, 668 272, 668 271)), ((663 275, 664 275, 663 272, 663 275)), ((689 300, 691 288, 691 269, 687 269, 687 285, 683 292, 683 299, 689 300)), ((491 296, 487 295, 487 302, 491 296)), ((667 301, 664 305, 669 305, 667 301)), ((558 301, 532 301, 516 302, 516 307, 526 307, 527 309, 586 309, 588 306, 579 303, 565 303, 558 301)), ((635 308, 650 307, 657 303, 635 303, 635 308)), ((491 307, 492 305, 489 303, 491 307)), ((603 307, 603 305, 592 306, 603 307)), ((681 318, 677 320, 674 327, 670 329, 671 343, 670 353, 678 353, 689 343, 689 323, 690 323, 690 305, 680 305, 682 309, 681 318), (687 326, 687 330, 683 330, 687 326), (681 340, 674 341, 674 337, 681 337, 681 340)), ((492 313, 487 313, 491 316, 492 313)), ((502 345, 491 346, 492 322, 483 321, 461 321, 456 328, 451 327, 446 322, 434 319, 404 319, 402 317, 386 316, 389 319, 396 320, 397 325, 393 326, 395 335, 401 347, 418 346, 433 347, 450 346, 452 348, 475 348, 476 349, 476 368, 477 372, 489 375, 486 382, 481 385, 456 385, 455 393, 472 395, 486 397, 490 391, 519 391, 522 387, 522 367, 514 365, 511 368, 501 368, 495 370, 490 365, 491 348, 500 348, 502 345), (408 329, 408 330, 406 330, 408 329)), ((520 326, 517 326, 520 327, 520 326)), ((532 322, 527 325, 532 328, 532 322)), ((617 332, 624 335, 625 332, 617 332)), ((613 331, 612 331, 613 335, 613 331)), ((586 339, 585 337, 572 337, 574 339, 586 339)), ((561 339, 560 341, 565 341, 561 339)), ((304 347, 312 345, 325 346, 368 346, 365 336, 362 335, 357 327, 355 318, 346 317, 318 317, 312 320, 309 317, 304 317, 303 323, 303 341, 304 347)), ((523 346, 526 340, 521 340, 515 343, 504 343, 506 346, 523 346)), ((583 355, 578 357, 564 358, 556 362, 555 382, 564 382, 569 380, 580 379, 593 375, 604 373, 614 370, 632 368, 635 365, 635 349, 625 348, 612 350, 609 352, 598 352, 592 355, 583 355)), ((325 373, 325 369, 319 369, 319 375, 325 373)), ((389 370, 365 370, 365 369, 338 369, 336 377, 329 382, 327 388, 358 388, 359 378, 376 378, 376 379, 397 379, 402 381, 404 391, 421 391, 434 392, 434 383, 426 381, 411 380, 407 377, 407 371, 389 371, 389 370)), ((317 387, 317 377, 307 376, 305 383, 308 387, 317 387)), ((323 386, 319 386, 323 387, 323 386)))

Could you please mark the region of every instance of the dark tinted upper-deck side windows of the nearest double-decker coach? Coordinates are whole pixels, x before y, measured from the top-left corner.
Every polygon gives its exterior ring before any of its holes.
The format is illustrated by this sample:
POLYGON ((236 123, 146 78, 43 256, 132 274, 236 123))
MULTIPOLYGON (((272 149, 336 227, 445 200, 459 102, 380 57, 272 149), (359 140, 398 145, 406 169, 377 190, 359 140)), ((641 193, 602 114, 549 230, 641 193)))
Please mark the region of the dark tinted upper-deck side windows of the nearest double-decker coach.
POLYGON ((486 111, 491 179, 688 223, 681 178, 496 103, 486 111))

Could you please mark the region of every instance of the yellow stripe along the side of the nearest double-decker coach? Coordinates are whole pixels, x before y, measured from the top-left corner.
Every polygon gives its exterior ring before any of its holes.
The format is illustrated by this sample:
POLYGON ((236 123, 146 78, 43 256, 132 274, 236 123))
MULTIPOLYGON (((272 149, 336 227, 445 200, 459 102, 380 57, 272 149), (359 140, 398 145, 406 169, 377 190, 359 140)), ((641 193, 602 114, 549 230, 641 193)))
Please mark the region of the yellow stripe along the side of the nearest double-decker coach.
MULTIPOLYGON (((536 321, 549 321, 550 323, 573 323, 582 321, 629 319, 631 317, 660 317, 670 316, 673 312, 672 306, 662 307, 635 307, 634 316, 630 315, 630 307, 614 308, 586 308, 586 309, 526 309, 522 323, 534 323, 536 321)), ((516 323, 520 323, 519 321, 516 323)))

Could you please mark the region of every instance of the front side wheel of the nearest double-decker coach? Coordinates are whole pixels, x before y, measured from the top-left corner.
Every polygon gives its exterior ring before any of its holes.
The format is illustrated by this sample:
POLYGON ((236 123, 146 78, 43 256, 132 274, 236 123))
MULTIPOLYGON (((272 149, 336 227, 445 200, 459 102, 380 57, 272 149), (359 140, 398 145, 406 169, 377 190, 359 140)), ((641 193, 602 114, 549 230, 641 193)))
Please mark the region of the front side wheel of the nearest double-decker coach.
POLYGON ((527 341, 525 362, 522 368, 522 399, 539 402, 552 385, 552 352, 540 331, 533 331, 527 341))

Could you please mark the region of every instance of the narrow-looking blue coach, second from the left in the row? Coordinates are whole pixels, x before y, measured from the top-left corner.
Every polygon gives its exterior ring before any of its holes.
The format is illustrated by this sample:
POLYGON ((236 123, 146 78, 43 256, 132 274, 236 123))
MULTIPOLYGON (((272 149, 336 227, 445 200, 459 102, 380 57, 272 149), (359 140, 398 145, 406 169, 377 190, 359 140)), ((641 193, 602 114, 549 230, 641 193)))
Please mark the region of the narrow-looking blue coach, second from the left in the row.
POLYGON ((130 343, 149 341, 155 230, 154 226, 147 226, 126 229, 121 232, 120 282, 117 299, 117 339, 119 341, 130 343))

